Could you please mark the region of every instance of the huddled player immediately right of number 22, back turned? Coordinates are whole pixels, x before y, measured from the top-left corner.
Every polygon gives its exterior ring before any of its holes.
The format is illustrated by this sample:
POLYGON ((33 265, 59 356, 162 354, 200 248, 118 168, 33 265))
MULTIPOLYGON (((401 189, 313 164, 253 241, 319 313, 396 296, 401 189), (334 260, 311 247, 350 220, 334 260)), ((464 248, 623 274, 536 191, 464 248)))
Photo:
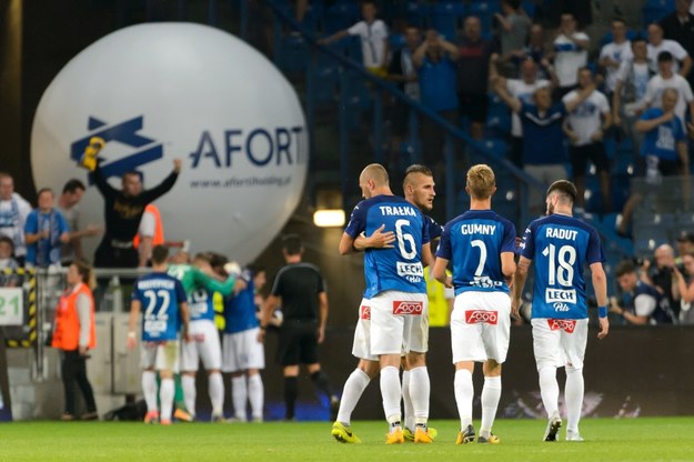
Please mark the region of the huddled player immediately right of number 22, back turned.
MULTIPOLYGON (((217 325, 214 325, 213 293, 217 289, 229 295, 233 291, 235 274, 225 282, 215 280, 210 274, 212 268, 210 261, 203 254, 198 254, 193 259, 193 267, 185 269, 180 265, 170 265, 169 274, 177 277, 178 271, 183 270, 184 274, 198 278, 194 289, 189 289, 188 301, 190 307, 190 339, 181 349, 181 371, 183 396, 185 408, 194 416, 195 414, 195 373, 200 361, 208 372, 208 393, 212 403, 212 421, 224 422, 224 381, 222 379, 222 346, 220 344, 217 325), (195 271, 197 270, 197 271, 195 271)), ((185 285, 184 285, 185 289, 185 285)))

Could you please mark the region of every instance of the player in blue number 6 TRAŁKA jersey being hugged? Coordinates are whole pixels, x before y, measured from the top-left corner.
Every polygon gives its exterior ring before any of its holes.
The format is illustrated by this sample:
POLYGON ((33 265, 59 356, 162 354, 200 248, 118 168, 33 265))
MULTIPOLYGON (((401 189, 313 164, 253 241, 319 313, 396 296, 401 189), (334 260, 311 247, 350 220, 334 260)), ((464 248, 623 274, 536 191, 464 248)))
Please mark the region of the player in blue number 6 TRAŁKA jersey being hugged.
MULTIPOLYGON (((379 358, 383 410, 390 424, 386 444, 404 442, 400 412, 401 351, 422 351, 426 332, 410 329, 408 317, 426 317, 426 285, 424 265, 431 262, 429 230, 421 211, 402 198, 393 195, 388 172, 378 164, 368 165, 359 178, 365 200, 352 211, 342 239, 340 253, 354 250, 355 239, 363 232, 366 238, 376 231, 394 232, 394 245, 382 249, 368 248, 364 253, 364 275, 370 300, 370 354, 379 358)), ((425 351, 425 350, 423 350, 425 351)), ((415 414, 414 442, 431 443, 428 432, 429 378, 411 378, 411 396, 415 414), (418 386, 421 386, 418 391, 418 386)))

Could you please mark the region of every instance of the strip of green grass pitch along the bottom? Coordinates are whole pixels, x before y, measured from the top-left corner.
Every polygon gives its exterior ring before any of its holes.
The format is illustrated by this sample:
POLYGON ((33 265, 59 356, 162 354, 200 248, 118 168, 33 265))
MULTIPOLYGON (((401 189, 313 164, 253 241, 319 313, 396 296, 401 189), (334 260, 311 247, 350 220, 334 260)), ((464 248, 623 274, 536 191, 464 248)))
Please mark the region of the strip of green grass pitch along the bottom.
MULTIPOLYGON (((479 425, 479 422, 475 422, 479 425)), ((586 419, 583 443, 543 443, 545 422, 499 420, 499 445, 454 444, 456 421, 432 421, 434 444, 384 445, 384 422, 356 421, 362 444, 329 422, 144 425, 135 422, 0 424, 0 461, 693 461, 694 418, 586 419)), ((563 440, 562 432, 562 440, 563 440)))

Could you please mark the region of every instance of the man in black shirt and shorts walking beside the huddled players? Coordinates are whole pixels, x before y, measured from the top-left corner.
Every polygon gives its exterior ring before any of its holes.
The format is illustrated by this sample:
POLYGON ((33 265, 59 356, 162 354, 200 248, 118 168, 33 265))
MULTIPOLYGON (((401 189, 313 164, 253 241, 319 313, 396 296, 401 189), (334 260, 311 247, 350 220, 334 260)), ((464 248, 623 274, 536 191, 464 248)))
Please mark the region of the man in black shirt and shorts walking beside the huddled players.
POLYGON ((284 420, 294 420, 294 405, 299 394, 299 364, 305 364, 316 389, 330 399, 331 419, 335 420, 340 399, 333 393, 328 375, 318 361, 318 344, 325 338, 328 294, 318 267, 303 263, 303 248, 296 234, 282 239, 282 253, 286 265, 278 272, 272 292, 265 300, 260 320, 259 341, 278 308, 282 307, 278 362, 284 372, 284 420))

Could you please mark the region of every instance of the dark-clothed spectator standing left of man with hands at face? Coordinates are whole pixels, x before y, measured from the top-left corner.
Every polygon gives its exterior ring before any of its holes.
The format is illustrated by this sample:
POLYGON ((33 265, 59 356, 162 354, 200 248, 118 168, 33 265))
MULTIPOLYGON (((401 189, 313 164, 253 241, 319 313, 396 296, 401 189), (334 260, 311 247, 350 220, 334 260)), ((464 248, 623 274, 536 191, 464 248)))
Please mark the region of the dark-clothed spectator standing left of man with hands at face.
MULTIPOLYGON (((414 27, 405 29, 405 47, 393 52, 393 59, 388 68, 389 80, 396 82, 400 91, 415 101, 420 100, 420 82, 414 66, 413 56, 422 43, 422 34, 414 27)), ((395 99, 391 107, 391 159, 398 164, 400 144, 408 132, 410 122, 410 107, 402 100, 395 99)))

